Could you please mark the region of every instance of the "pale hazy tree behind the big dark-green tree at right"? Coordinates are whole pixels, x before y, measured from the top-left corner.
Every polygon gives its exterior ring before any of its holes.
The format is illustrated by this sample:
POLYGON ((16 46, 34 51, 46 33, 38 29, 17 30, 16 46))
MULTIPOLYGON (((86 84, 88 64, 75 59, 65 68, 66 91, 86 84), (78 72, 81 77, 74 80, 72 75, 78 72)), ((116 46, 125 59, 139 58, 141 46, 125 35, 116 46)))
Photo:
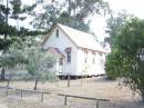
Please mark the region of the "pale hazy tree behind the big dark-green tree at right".
POLYGON ((113 47, 113 39, 119 33, 123 26, 133 18, 133 14, 127 13, 125 10, 120 11, 119 13, 111 13, 111 17, 106 20, 107 29, 105 32, 110 36, 104 39, 105 42, 109 42, 111 48, 113 47))

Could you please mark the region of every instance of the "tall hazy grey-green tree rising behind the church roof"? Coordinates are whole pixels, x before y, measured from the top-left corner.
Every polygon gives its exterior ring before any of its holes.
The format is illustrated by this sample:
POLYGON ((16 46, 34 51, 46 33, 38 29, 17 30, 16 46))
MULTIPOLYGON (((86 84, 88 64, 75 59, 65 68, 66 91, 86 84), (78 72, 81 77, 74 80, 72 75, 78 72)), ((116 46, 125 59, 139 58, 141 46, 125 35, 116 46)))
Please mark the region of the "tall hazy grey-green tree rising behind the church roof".
POLYGON ((63 2, 52 0, 51 3, 45 3, 44 0, 41 3, 42 12, 34 12, 35 18, 32 24, 47 31, 53 23, 60 22, 88 32, 90 21, 85 21, 85 19, 90 14, 102 13, 102 10, 107 9, 107 3, 103 0, 64 0, 63 2))

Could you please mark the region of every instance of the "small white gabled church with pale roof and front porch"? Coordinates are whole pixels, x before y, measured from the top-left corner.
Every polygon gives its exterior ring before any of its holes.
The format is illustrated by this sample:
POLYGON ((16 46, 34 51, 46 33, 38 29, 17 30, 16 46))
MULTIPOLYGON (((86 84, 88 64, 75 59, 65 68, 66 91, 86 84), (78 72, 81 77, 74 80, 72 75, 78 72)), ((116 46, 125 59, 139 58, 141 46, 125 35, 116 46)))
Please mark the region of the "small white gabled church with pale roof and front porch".
POLYGON ((56 23, 43 41, 43 48, 58 55, 52 67, 60 76, 104 75, 106 51, 95 37, 70 27, 56 23))

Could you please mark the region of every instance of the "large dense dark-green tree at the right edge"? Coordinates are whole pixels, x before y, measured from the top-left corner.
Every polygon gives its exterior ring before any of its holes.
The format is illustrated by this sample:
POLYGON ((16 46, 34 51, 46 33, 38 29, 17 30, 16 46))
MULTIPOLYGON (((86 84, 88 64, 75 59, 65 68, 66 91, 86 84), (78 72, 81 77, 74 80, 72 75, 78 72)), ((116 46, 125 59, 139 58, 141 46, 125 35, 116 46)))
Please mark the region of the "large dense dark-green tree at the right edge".
POLYGON ((111 70, 144 101, 144 21, 133 18, 127 21, 121 32, 113 38, 112 52, 106 59, 107 71, 111 70), (117 51, 115 51, 115 49, 117 51), (114 55, 113 55, 114 52, 114 55), (110 57, 112 59, 110 59, 110 57), (113 62, 111 61, 113 60, 113 62), (113 66, 112 66, 113 65, 113 66), (114 68, 113 68, 114 67, 114 68))

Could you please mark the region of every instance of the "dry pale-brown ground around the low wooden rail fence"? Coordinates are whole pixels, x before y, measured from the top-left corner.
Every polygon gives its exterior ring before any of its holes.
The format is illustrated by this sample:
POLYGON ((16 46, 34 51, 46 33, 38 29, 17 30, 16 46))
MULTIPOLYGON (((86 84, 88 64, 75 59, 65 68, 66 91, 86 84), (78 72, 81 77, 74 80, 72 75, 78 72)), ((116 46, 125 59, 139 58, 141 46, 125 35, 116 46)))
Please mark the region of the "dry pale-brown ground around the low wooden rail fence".
MULTIPOLYGON (((96 102, 83 99, 68 99, 68 106, 63 106, 64 98, 54 94, 78 95, 93 98, 110 99, 109 102, 100 102, 100 108, 144 108, 138 95, 133 96, 126 87, 117 86, 117 81, 109 81, 104 78, 85 78, 71 80, 71 87, 66 87, 66 80, 58 82, 39 84, 38 89, 52 92, 44 95, 44 101, 40 101, 40 95, 25 94, 20 98, 20 92, 10 92, 6 97, 0 90, 0 108, 96 108, 96 102)), ((20 89, 33 89, 33 81, 12 81, 11 87, 20 89)), ((6 82, 0 82, 6 86, 6 82)))

